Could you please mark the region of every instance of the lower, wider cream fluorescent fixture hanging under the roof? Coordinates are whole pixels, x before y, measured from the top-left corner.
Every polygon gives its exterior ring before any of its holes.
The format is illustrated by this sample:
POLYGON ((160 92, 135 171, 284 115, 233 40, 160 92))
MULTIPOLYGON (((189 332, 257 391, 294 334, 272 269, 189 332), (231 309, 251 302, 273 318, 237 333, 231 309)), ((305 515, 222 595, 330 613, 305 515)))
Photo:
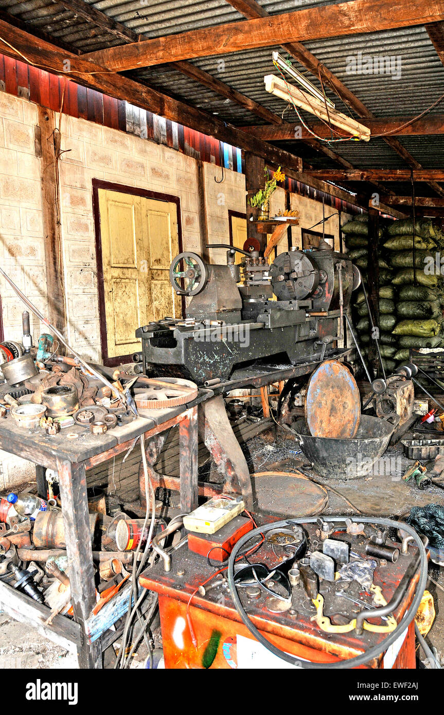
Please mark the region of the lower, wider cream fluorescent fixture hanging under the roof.
POLYGON ((362 139, 364 142, 370 141, 370 129, 368 127, 356 122, 352 117, 347 117, 342 112, 337 112, 336 109, 329 109, 327 112, 323 97, 322 100, 316 99, 312 95, 302 92, 299 87, 294 87, 292 84, 280 79, 280 77, 276 77, 275 74, 265 75, 264 82, 266 92, 274 94, 275 97, 280 97, 284 102, 289 102, 291 97, 291 101, 300 109, 305 109, 305 112, 315 114, 315 117, 319 117, 322 121, 334 124, 335 127, 339 127, 343 132, 351 134, 356 139, 362 139))

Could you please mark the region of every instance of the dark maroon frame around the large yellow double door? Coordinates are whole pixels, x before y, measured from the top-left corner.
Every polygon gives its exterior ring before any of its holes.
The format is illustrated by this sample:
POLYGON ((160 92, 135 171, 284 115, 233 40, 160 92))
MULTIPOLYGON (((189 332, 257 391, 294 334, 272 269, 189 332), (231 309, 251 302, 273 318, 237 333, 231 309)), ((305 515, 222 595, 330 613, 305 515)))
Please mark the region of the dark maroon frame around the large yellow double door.
MULTIPOLYGON (((119 194, 130 194, 132 196, 141 196, 144 199, 155 199, 156 201, 164 201, 167 203, 176 204, 177 209, 177 239, 179 242, 179 253, 183 251, 182 243, 182 216, 180 212, 180 198, 171 194, 161 194, 157 191, 149 189, 139 189, 126 184, 114 184, 112 182, 103 181, 102 179, 92 179, 92 212, 94 216, 94 235, 96 243, 96 265, 97 265, 97 291, 99 294, 99 325, 100 325, 100 347, 102 350, 103 364, 108 368, 115 368, 122 362, 131 363, 134 352, 129 355, 120 355, 117 358, 109 358, 108 342, 107 342, 107 318, 105 315, 105 290, 104 290, 104 275, 103 275, 103 260, 102 260, 102 233, 100 230, 100 212, 99 212, 99 189, 107 191, 116 191, 119 194)), ((184 300, 182 297, 182 312, 184 311, 184 300)), ((134 325, 134 332, 139 325, 134 325)))

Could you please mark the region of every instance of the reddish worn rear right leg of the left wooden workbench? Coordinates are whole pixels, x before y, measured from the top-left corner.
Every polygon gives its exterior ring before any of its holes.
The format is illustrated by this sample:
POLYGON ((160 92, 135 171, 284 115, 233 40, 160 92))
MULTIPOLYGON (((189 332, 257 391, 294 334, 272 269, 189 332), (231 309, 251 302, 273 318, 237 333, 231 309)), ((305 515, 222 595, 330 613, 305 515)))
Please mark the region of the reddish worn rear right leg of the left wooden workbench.
POLYGON ((189 513, 197 507, 197 406, 187 410, 179 422, 180 511, 189 513))

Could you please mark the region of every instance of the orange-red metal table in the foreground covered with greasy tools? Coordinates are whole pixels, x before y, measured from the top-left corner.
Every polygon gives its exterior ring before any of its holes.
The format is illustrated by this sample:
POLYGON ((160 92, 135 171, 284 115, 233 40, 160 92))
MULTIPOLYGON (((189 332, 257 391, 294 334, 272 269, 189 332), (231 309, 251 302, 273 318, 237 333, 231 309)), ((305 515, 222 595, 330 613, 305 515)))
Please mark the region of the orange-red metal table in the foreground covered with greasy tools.
MULTIPOLYGON (((262 517, 260 523, 262 526, 266 523, 272 525, 273 521, 275 519, 262 517)), ((308 548, 322 551, 319 527, 306 524, 304 530, 308 536, 308 548)), ((308 595, 313 573, 305 583, 302 583, 301 578, 292 586, 291 603, 270 596, 265 588, 257 587, 254 582, 246 588, 238 588, 242 605, 260 633, 287 653, 325 666, 359 656, 372 646, 382 643, 387 633, 377 631, 390 628, 387 618, 369 618, 367 623, 370 623, 370 627, 365 626, 361 635, 353 628, 347 632, 341 631, 346 630, 346 624, 356 618, 362 608, 375 608, 374 593, 378 589, 387 603, 393 600, 395 605, 395 599, 398 601, 398 606, 393 608, 393 617, 397 623, 400 622, 410 607, 418 584, 418 548, 410 545, 407 553, 400 553, 395 563, 383 558, 370 559, 365 546, 371 531, 366 526, 365 533, 352 536, 344 526, 330 534, 332 540, 337 540, 336 543, 340 541, 342 546, 347 544, 350 563, 342 566, 337 564, 338 571, 343 575, 341 578, 336 577, 333 581, 331 577, 330 580, 320 578, 317 581, 316 588, 319 588, 323 599, 323 614, 322 611, 317 613, 319 603, 315 606, 308 595), (374 571, 370 569, 370 578, 365 576, 366 580, 362 577, 362 571, 358 574, 362 578, 361 583, 350 576, 358 562, 367 565, 371 563, 376 567, 374 571), (322 621, 322 616, 327 616, 327 622, 322 621)), ((265 563, 272 570, 286 558, 288 551, 285 552, 285 548, 288 547, 279 546, 283 543, 282 536, 273 532, 270 534, 272 538, 265 535, 265 543, 248 561, 265 563), (284 553, 286 556, 283 556, 284 553)), ((252 543, 257 545, 257 538, 252 543)), ((400 543, 393 546, 400 547, 400 543)), ((214 552, 213 558, 207 558, 202 549, 199 551, 191 551, 184 544, 174 552, 170 571, 165 571, 164 562, 159 561, 140 577, 144 588, 159 594, 165 666, 175 669, 285 667, 282 660, 257 643, 242 623, 226 579, 227 561, 218 563, 214 559, 214 552)), ((299 561, 301 576, 302 561, 299 561)), ((245 566, 247 562, 240 559, 238 563, 245 566)), ((276 584, 272 581, 269 583, 270 588, 275 588, 276 584)), ((394 627, 394 623, 391 627, 394 627)), ((400 633, 393 646, 381 652, 365 667, 414 668, 413 622, 400 633)))

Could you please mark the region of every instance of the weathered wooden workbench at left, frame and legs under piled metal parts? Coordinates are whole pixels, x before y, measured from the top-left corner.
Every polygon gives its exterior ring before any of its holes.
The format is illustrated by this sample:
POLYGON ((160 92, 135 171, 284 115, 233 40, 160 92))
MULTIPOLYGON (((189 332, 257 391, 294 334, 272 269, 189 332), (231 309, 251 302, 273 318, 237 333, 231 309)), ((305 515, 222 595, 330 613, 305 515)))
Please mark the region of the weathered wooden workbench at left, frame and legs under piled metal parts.
MULTIPOLYGON (((103 618, 103 614, 100 621, 104 623, 103 631, 97 621, 92 622, 90 618, 96 603, 96 589, 89 531, 87 470, 127 452, 140 435, 149 440, 179 425, 181 511, 192 511, 197 506, 197 405, 211 396, 211 390, 199 390, 197 398, 188 405, 152 410, 149 418, 137 418, 127 425, 108 430, 104 435, 92 435, 86 428, 75 425, 50 436, 41 428, 19 428, 10 416, 0 420, 0 449, 36 464, 37 490, 41 497, 47 496, 46 468, 59 474, 74 621, 59 615, 51 626, 44 625, 50 609, 6 583, 0 583, 0 605, 13 618, 37 628, 57 644, 71 651, 77 650, 81 668, 102 668, 102 650, 118 634, 109 631, 112 623, 103 618), (79 436, 67 438, 69 433, 79 436)), ((122 608, 115 611, 116 618, 112 622, 122 617, 122 608)))

